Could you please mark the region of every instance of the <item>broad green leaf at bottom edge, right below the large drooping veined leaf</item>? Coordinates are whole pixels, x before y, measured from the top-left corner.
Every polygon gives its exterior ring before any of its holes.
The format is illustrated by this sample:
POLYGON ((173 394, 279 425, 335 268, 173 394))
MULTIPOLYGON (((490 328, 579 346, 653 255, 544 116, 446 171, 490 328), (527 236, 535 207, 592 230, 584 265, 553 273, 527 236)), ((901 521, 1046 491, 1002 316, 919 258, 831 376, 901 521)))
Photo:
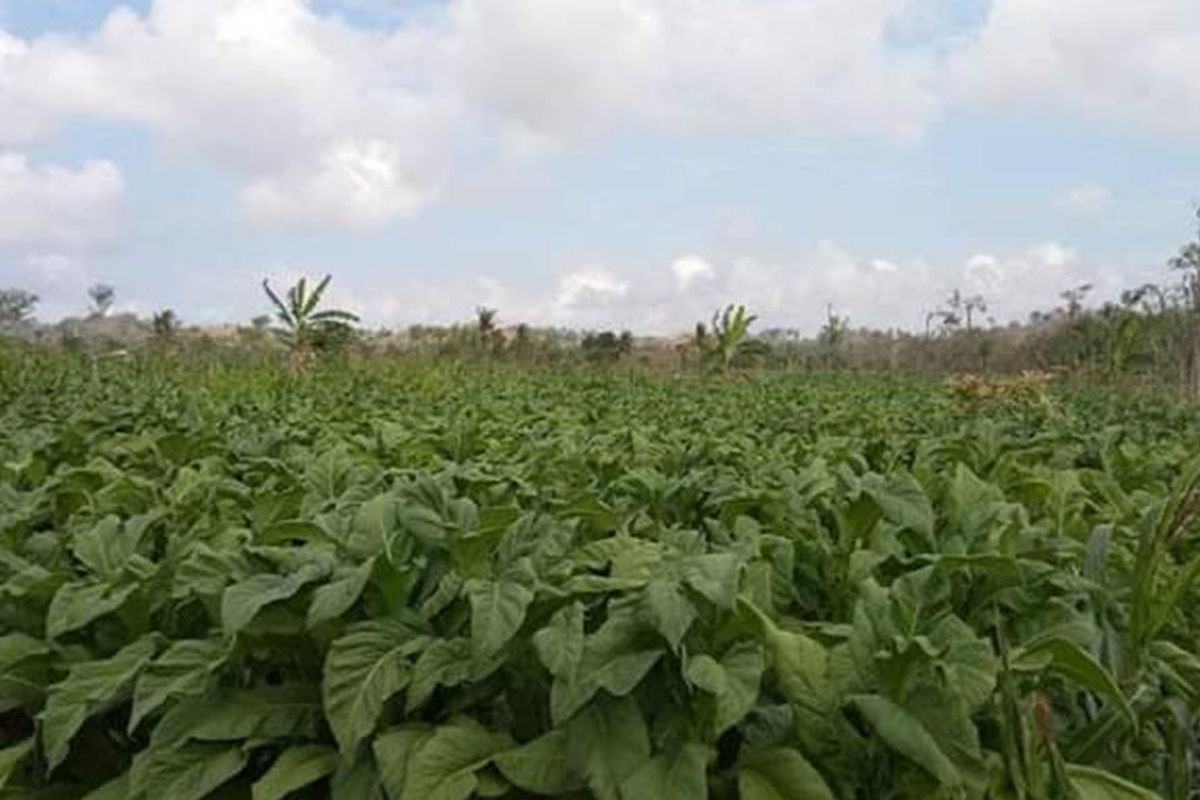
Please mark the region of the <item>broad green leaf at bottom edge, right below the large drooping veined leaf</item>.
POLYGON ((400 796, 467 800, 478 786, 475 772, 511 747, 506 734, 492 733, 469 718, 440 726, 409 756, 400 796))

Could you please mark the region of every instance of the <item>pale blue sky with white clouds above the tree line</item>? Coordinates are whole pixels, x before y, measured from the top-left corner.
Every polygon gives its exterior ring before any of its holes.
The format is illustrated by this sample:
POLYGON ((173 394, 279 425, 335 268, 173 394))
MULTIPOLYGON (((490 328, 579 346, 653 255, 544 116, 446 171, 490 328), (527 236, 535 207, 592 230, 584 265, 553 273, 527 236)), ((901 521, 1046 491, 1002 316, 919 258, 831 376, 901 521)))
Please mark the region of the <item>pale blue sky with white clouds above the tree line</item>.
POLYGON ((998 321, 1165 277, 1196 0, 0 0, 0 287, 187 321, 998 321))

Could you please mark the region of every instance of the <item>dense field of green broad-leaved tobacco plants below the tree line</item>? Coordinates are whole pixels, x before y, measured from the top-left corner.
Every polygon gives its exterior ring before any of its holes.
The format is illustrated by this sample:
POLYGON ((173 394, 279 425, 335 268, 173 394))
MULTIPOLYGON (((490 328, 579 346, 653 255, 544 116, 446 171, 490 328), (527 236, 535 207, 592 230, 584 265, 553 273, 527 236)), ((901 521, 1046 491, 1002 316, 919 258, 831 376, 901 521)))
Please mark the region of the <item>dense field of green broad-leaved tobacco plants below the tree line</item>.
POLYGON ((1200 416, 0 356, 0 798, 1196 796, 1200 416))

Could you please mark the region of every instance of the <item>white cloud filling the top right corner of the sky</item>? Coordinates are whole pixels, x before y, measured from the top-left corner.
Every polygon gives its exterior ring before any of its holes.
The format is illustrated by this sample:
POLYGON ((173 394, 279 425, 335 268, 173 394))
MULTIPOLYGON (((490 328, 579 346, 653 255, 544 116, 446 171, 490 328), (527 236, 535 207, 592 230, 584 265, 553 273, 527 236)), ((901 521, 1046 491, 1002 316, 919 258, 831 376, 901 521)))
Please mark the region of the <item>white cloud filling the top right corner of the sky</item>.
POLYGON ((949 66, 952 102, 1200 132, 1195 0, 994 0, 949 66))

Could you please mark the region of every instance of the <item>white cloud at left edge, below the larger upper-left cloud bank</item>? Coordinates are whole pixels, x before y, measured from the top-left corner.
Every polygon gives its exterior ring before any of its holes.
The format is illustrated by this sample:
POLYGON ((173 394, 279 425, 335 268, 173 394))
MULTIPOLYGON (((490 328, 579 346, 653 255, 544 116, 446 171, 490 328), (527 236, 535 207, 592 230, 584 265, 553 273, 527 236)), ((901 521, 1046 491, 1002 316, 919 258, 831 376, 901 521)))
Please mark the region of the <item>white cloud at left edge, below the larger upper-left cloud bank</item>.
POLYGON ((124 193, 112 162, 71 168, 0 151, 0 248, 76 251, 110 241, 124 193))

